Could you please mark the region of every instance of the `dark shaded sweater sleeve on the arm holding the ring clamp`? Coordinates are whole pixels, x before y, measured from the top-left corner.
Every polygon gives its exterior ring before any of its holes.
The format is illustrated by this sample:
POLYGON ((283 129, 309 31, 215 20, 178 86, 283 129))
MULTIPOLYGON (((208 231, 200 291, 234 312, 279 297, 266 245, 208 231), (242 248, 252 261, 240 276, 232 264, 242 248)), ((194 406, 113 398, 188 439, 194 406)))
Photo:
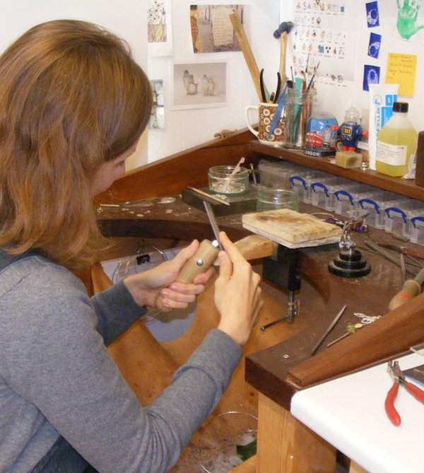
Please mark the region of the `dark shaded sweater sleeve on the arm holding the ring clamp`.
POLYGON ((134 322, 146 314, 146 307, 136 304, 123 281, 91 298, 98 318, 98 332, 108 346, 134 322))

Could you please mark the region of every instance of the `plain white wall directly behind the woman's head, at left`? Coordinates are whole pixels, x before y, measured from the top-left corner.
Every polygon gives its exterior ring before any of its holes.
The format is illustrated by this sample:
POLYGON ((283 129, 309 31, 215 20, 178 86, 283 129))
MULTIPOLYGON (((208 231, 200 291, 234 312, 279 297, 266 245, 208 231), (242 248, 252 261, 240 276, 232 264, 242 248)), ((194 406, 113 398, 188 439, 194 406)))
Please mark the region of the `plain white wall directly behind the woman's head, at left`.
MULTIPOLYGON (((1 0, 0 51, 31 26, 64 18, 98 23, 123 37, 134 59, 147 69, 147 1, 143 0, 1 0)), ((145 134, 129 168, 146 163, 147 152, 145 134)))

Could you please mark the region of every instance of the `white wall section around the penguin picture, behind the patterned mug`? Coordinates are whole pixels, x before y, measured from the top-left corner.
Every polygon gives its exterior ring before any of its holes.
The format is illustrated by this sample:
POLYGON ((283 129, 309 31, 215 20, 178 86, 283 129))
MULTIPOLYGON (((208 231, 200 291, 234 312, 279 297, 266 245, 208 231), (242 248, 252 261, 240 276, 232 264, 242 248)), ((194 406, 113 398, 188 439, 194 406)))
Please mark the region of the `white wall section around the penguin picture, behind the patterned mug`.
POLYGON ((149 57, 151 79, 163 79, 165 130, 150 130, 149 162, 213 139, 222 129, 241 129, 245 125, 245 107, 258 98, 242 52, 194 54, 189 21, 190 4, 244 4, 245 30, 259 69, 265 69, 269 88, 276 86, 279 66, 279 42, 273 31, 279 25, 279 0, 227 1, 175 0, 172 2, 173 56, 149 57), (227 106, 196 110, 170 110, 171 69, 174 62, 227 62, 227 106))

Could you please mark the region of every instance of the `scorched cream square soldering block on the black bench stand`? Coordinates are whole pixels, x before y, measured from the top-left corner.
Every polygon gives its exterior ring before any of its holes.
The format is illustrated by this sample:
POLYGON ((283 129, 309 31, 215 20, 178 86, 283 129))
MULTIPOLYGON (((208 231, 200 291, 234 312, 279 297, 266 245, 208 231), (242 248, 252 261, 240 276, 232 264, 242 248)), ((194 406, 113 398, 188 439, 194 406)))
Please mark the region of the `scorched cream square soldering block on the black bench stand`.
POLYGON ((302 243, 341 235, 341 228, 309 214, 290 209, 278 209, 242 217, 243 225, 275 235, 289 243, 302 243))

